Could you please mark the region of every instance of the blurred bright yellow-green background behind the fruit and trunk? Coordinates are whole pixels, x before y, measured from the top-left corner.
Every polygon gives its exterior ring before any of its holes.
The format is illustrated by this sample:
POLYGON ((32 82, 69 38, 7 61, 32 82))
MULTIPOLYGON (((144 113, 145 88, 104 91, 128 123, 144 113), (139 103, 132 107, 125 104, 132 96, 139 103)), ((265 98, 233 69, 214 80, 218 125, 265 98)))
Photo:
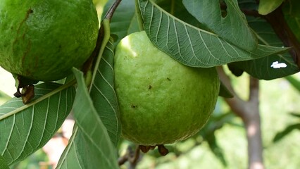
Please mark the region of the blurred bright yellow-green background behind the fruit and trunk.
MULTIPOLYGON (((237 93, 246 99, 248 96, 248 75, 232 77, 237 93)), ((293 75, 300 80, 300 74, 293 75)), ((261 80, 260 110, 263 134, 263 157, 266 168, 299 168, 300 132, 292 130, 278 142, 273 142, 275 135, 288 125, 300 123, 290 113, 300 113, 300 93, 285 79, 261 80)), ((0 104, 13 96, 15 92, 13 77, 0 68, 0 104)), ((124 154, 130 142, 120 143, 120 156, 124 154)), ((194 137, 177 144, 166 146, 170 153, 159 156, 158 151, 142 154, 137 168, 246 168, 247 143, 242 120, 230 111, 223 98, 219 97, 213 116, 204 129, 194 137)), ((135 149, 135 146, 133 146, 135 149)), ((30 158, 18 163, 13 168, 42 168, 48 158, 42 150, 30 158)), ((50 167, 49 167, 50 168, 50 167)), ((125 163, 121 168, 130 168, 125 163)))

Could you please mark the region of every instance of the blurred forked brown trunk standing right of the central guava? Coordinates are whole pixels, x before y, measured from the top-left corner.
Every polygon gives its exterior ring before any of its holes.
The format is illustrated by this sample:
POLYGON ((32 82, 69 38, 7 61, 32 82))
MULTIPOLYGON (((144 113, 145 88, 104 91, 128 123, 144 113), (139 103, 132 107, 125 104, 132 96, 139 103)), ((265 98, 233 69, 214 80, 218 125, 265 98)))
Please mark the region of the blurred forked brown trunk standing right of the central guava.
POLYGON ((234 94, 231 99, 225 99, 232 111, 242 118, 248 142, 248 167, 250 169, 263 169, 263 144, 261 141, 261 118, 259 112, 259 80, 250 77, 249 100, 244 101, 235 93, 228 77, 222 67, 218 67, 220 80, 234 94))

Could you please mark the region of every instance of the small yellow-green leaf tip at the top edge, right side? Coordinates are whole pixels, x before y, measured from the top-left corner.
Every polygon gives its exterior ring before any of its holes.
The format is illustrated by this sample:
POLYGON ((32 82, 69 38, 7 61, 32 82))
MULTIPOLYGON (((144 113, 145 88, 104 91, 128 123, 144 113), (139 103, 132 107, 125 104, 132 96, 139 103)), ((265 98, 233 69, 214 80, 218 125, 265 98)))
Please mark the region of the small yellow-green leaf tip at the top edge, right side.
POLYGON ((260 0, 258 6, 258 13, 267 15, 278 8, 284 0, 260 0))

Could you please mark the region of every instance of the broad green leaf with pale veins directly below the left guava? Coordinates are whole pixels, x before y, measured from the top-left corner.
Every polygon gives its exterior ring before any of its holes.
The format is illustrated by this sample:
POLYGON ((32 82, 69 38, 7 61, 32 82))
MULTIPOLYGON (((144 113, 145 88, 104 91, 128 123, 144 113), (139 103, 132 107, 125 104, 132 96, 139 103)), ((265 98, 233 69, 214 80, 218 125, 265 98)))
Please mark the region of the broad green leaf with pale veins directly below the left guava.
POLYGON ((61 127, 73 105, 73 84, 37 84, 30 104, 13 98, 0 106, 0 155, 8 165, 44 146, 61 127))

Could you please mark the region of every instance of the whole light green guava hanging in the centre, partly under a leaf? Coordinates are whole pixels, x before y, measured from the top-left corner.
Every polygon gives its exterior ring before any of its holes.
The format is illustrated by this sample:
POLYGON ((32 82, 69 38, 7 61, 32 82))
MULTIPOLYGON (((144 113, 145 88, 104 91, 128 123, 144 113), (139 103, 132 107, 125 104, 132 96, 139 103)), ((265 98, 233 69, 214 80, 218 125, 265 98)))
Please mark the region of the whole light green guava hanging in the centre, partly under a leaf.
POLYGON ((199 132, 215 108, 215 68, 192 68, 135 32, 115 49, 115 91, 122 136, 144 146, 172 144, 199 132))

